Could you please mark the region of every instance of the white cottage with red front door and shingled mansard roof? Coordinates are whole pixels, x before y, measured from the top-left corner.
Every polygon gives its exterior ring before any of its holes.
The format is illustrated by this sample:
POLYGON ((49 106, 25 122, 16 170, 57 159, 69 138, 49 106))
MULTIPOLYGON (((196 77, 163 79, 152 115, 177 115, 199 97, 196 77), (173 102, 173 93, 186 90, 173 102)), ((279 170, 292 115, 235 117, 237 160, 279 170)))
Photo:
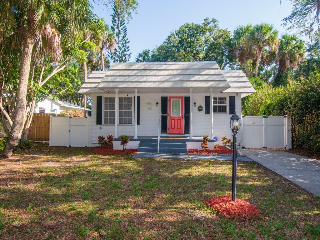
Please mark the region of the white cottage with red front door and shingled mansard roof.
POLYGON ((107 72, 92 72, 79 90, 92 98, 93 146, 99 135, 129 135, 127 148, 147 152, 154 151, 158 127, 164 152, 172 136, 187 148, 200 148, 203 135, 211 147, 214 137, 218 144, 231 138, 230 116, 234 110, 241 116, 241 98, 254 92, 241 70, 221 70, 214 61, 113 63, 107 72))

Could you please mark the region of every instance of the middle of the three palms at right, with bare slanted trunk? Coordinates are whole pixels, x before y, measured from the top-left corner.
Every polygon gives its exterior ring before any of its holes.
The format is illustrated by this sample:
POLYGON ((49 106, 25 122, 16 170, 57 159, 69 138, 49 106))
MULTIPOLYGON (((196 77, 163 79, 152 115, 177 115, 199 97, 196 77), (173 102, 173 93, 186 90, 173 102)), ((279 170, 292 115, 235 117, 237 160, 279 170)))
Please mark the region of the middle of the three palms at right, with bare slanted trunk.
POLYGON ((263 50, 268 47, 271 51, 277 52, 279 39, 278 31, 273 25, 268 23, 259 23, 253 26, 249 39, 252 42, 252 49, 255 52, 255 69, 252 66, 251 76, 258 76, 258 68, 263 50))

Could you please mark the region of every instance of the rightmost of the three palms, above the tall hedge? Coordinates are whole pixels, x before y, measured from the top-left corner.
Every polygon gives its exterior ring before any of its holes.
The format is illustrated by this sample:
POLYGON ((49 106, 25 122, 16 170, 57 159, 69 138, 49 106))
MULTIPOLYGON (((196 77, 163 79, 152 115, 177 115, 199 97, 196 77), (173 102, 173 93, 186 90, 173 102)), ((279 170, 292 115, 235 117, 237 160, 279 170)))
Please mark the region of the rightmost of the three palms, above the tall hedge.
POLYGON ((298 65, 304 60, 305 53, 306 48, 302 39, 298 39, 295 34, 282 34, 276 54, 279 67, 273 81, 274 86, 288 84, 288 69, 297 69, 298 65))

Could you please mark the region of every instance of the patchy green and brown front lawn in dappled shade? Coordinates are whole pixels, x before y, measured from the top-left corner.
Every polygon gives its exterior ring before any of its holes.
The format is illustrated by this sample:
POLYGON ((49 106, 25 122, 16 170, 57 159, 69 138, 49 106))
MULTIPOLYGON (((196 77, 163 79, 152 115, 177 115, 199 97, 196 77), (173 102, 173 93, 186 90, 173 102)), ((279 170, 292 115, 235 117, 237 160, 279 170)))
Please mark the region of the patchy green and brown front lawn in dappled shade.
POLYGON ((262 218, 235 220, 201 203, 231 195, 231 162, 93 149, 35 144, 0 159, 0 239, 320 238, 320 198, 256 163, 238 162, 237 197, 262 218))

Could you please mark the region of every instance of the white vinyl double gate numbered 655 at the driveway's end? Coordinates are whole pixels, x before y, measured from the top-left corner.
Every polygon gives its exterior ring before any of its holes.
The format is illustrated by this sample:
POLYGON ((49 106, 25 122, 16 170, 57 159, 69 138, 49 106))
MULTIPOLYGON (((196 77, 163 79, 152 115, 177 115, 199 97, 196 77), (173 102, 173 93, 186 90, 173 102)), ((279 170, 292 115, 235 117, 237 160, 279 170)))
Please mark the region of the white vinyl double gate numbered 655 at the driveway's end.
POLYGON ((242 147, 291 148, 290 117, 242 116, 242 147))

